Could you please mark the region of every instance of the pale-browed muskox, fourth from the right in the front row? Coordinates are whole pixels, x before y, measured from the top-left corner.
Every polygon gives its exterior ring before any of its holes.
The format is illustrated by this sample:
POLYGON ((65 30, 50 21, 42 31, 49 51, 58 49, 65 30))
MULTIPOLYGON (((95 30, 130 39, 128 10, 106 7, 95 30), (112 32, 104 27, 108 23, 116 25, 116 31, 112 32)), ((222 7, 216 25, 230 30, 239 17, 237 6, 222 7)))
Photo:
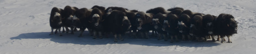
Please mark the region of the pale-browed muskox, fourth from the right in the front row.
POLYGON ((178 29, 182 34, 182 40, 185 41, 185 35, 188 36, 188 40, 191 40, 189 35, 190 17, 187 14, 180 15, 178 19, 178 29))

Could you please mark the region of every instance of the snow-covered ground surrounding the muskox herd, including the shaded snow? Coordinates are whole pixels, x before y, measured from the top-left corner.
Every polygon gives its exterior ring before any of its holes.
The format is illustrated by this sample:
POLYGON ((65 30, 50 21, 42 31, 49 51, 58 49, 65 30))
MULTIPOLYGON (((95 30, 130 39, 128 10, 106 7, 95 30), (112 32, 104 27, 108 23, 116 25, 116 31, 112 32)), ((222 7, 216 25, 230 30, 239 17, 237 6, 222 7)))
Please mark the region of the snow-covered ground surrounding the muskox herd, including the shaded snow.
POLYGON ((0 54, 255 54, 256 0, 0 0, 0 54), (118 6, 129 10, 183 7, 193 12, 232 14, 238 23, 233 43, 174 42, 133 39, 114 42, 113 37, 92 39, 70 33, 49 35, 49 17, 53 7, 78 8, 118 6))

